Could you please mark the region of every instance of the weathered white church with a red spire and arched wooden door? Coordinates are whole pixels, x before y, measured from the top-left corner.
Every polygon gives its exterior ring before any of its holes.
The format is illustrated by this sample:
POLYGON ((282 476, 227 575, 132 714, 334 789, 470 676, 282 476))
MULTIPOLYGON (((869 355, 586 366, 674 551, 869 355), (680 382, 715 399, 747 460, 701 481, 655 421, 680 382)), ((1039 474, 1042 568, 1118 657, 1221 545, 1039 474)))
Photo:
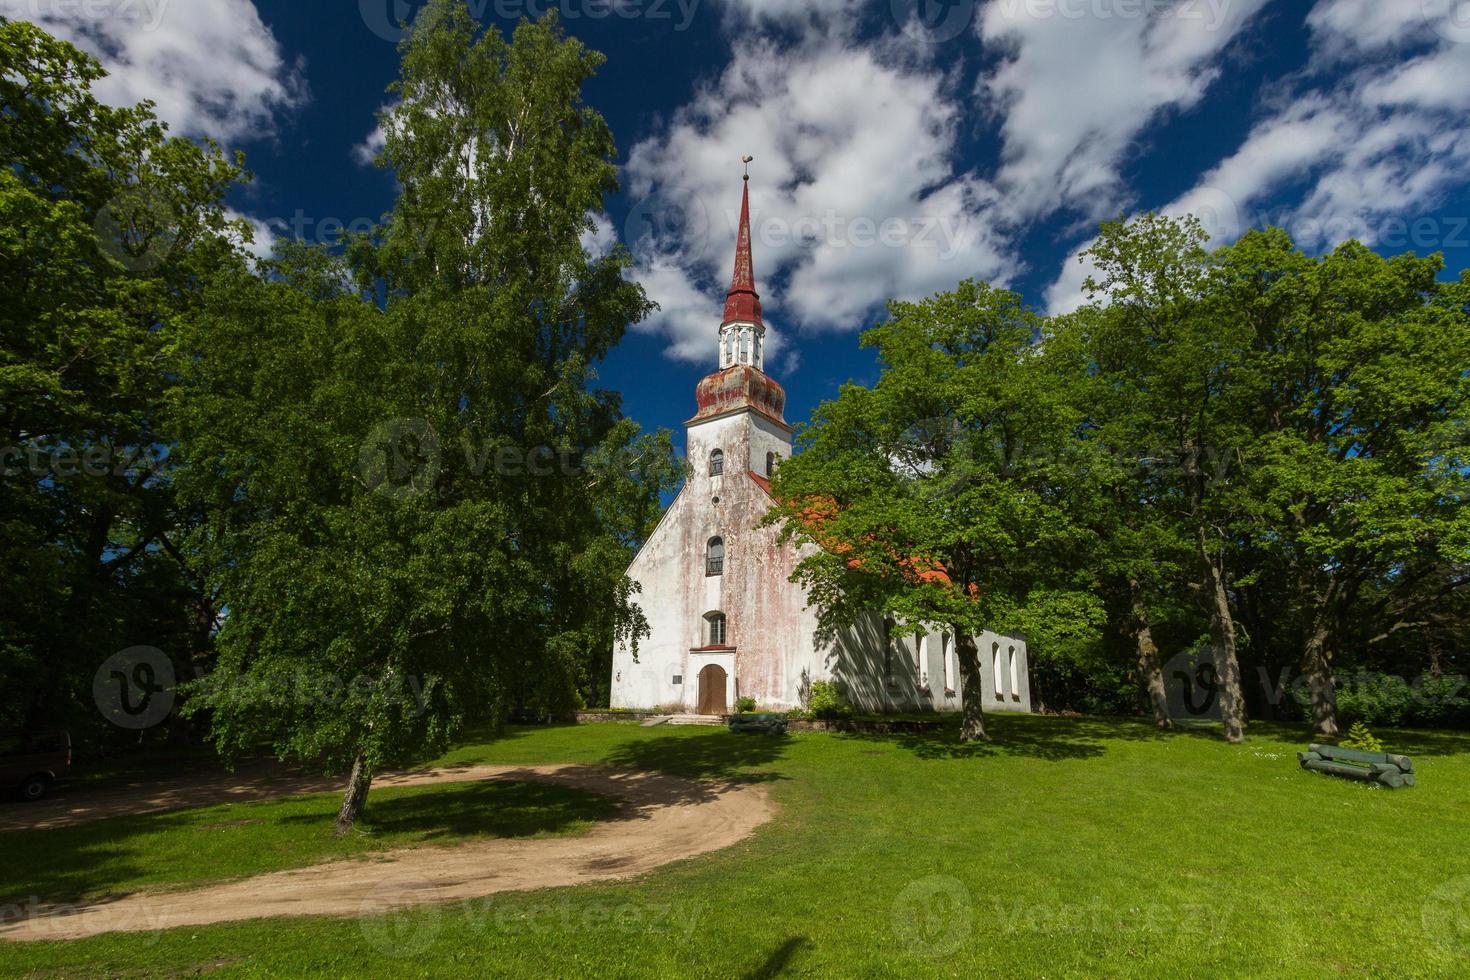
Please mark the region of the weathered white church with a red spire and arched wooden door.
MULTIPOLYGON (((651 632, 637 660, 626 642, 613 651, 612 707, 726 714, 751 696, 759 708, 795 708, 811 682, 835 680, 860 711, 958 711, 950 633, 892 636, 875 614, 819 646, 817 610, 791 582, 801 547, 757 526, 792 429, 786 392, 764 372, 745 179, 719 370, 700 381, 685 423, 691 476, 628 569, 651 632)), ((1026 644, 995 633, 976 644, 985 710, 1030 711, 1026 644)))

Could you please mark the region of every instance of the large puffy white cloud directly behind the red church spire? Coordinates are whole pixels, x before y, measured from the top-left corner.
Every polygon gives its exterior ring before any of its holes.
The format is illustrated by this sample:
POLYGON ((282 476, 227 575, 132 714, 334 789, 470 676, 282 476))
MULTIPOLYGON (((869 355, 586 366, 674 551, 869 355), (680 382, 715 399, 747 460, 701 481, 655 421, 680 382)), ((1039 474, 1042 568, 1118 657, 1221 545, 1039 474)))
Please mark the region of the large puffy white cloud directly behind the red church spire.
POLYGON ((644 329, 663 331, 675 357, 713 357, 747 153, 757 288, 803 328, 857 329, 891 297, 1010 278, 995 192, 956 172, 958 118, 944 75, 897 40, 738 43, 723 73, 629 153, 631 194, 647 198, 631 223, 681 215, 657 254, 639 247, 641 225, 626 229, 635 275, 663 307, 644 329))

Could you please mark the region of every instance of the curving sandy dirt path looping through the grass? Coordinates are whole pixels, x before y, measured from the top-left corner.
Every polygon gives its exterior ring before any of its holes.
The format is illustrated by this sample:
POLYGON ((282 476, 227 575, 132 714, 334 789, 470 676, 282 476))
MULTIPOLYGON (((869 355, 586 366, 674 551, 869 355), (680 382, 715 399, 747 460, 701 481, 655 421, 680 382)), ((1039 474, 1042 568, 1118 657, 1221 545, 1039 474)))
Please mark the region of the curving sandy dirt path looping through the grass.
POLYGON ((711 786, 592 765, 428 770, 398 776, 394 785, 467 779, 550 780, 626 802, 612 820, 581 837, 390 851, 185 892, 138 892, 93 904, 28 908, 21 909, 19 921, 12 909, 10 918, 0 921, 0 939, 79 939, 275 915, 370 917, 422 902, 625 879, 726 848, 775 813, 761 785, 711 786))

